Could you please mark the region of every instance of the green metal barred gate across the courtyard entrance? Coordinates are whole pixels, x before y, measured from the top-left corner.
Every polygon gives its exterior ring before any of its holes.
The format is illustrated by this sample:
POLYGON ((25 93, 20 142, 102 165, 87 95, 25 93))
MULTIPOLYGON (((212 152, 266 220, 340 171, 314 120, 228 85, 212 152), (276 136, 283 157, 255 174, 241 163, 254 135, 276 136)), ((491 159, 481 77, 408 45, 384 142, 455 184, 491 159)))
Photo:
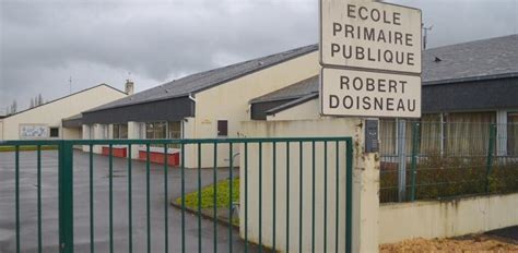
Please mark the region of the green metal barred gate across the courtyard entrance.
POLYGON ((351 137, 0 148, 0 252, 351 252, 351 137))

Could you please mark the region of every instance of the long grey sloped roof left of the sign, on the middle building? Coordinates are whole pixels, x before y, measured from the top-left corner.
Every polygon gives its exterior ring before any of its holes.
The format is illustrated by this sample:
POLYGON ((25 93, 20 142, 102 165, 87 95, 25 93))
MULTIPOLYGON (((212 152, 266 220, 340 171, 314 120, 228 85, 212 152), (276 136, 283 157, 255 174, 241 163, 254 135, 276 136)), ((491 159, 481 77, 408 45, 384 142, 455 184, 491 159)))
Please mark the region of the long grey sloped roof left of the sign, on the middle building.
POLYGON ((110 108, 125 107, 136 104, 151 103, 156 100, 164 100, 175 97, 185 97, 189 94, 195 94, 203 89, 229 82, 232 80, 242 77, 244 75, 254 73, 286 60, 304 56, 306 53, 318 50, 317 45, 310 45, 302 48, 292 49, 285 52, 280 52, 255 60, 249 60, 192 75, 175 80, 160 86, 137 93, 132 96, 121 98, 119 100, 106 104, 104 106, 89 110, 99 111, 110 108))

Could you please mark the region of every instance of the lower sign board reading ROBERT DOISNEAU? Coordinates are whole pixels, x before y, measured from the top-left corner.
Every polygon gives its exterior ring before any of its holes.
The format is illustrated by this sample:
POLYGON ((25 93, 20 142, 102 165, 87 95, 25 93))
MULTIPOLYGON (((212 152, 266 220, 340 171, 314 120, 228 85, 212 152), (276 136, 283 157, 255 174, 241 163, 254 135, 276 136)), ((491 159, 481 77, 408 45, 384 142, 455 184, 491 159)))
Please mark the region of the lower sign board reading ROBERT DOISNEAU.
POLYGON ((322 69, 322 115, 421 117, 421 77, 355 70, 322 69))

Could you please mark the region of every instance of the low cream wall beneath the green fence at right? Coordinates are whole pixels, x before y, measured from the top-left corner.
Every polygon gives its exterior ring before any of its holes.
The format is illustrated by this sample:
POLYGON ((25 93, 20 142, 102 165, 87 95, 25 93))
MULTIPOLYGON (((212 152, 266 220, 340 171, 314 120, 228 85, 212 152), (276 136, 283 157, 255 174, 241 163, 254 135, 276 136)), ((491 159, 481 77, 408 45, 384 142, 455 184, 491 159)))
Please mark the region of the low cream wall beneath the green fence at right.
POLYGON ((449 238, 518 225, 518 193, 381 205, 380 243, 449 238))

